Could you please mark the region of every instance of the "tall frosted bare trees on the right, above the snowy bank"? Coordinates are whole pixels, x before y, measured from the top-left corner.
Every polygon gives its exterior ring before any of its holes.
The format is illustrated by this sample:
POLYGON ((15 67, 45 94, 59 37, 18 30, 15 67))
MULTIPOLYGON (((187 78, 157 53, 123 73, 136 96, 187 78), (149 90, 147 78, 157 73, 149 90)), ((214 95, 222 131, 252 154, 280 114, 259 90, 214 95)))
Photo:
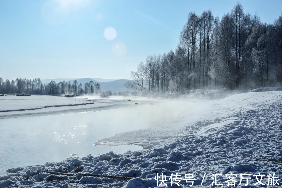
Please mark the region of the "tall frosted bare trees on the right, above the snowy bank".
POLYGON ((251 89, 282 84, 282 14, 262 23, 237 3, 215 17, 190 12, 175 51, 149 55, 125 86, 141 92, 251 89))

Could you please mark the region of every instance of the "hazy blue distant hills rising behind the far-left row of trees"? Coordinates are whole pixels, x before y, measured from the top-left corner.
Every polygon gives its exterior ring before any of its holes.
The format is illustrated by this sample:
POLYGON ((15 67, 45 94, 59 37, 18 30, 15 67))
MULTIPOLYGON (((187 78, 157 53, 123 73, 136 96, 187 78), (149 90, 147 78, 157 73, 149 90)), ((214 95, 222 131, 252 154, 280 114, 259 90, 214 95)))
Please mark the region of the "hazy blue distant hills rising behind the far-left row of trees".
MULTIPOLYGON (((97 82, 97 83, 100 84, 100 87, 101 87, 101 90, 102 90, 102 91, 109 91, 109 90, 111 90, 111 91, 113 91, 113 92, 118 92, 118 91, 123 91, 123 92, 125 92, 125 91, 129 91, 129 89, 124 86, 124 84, 125 84, 127 81, 129 81, 129 80, 125 80, 125 79, 113 80, 113 81, 105 82, 105 81, 98 81, 99 78, 98 78, 98 80, 94 80, 94 79, 92 79, 92 78, 77 78, 77 79, 75 79, 75 78, 56 78, 56 79, 45 79, 45 80, 41 80, 41 82, 42 82, 43 84, 48 84, 48 83, 50 83, 52 80, 55 81, 56 83, 62 82, 63 80, 65 80, 66 82, 69 82, 69 81, 70 81, 70 83, 73 83, 73 81, 76 80, 78 83, 81 82, 81 84, 83 85, 83 87, 84 87, 84 84, 85 84, 86 82, 90 82, 90 81, 92 80, 93 82, 97 82)), ((100 80, 107 80, 107 79, 102 79, 102 78, 100 78, 100 80)))

